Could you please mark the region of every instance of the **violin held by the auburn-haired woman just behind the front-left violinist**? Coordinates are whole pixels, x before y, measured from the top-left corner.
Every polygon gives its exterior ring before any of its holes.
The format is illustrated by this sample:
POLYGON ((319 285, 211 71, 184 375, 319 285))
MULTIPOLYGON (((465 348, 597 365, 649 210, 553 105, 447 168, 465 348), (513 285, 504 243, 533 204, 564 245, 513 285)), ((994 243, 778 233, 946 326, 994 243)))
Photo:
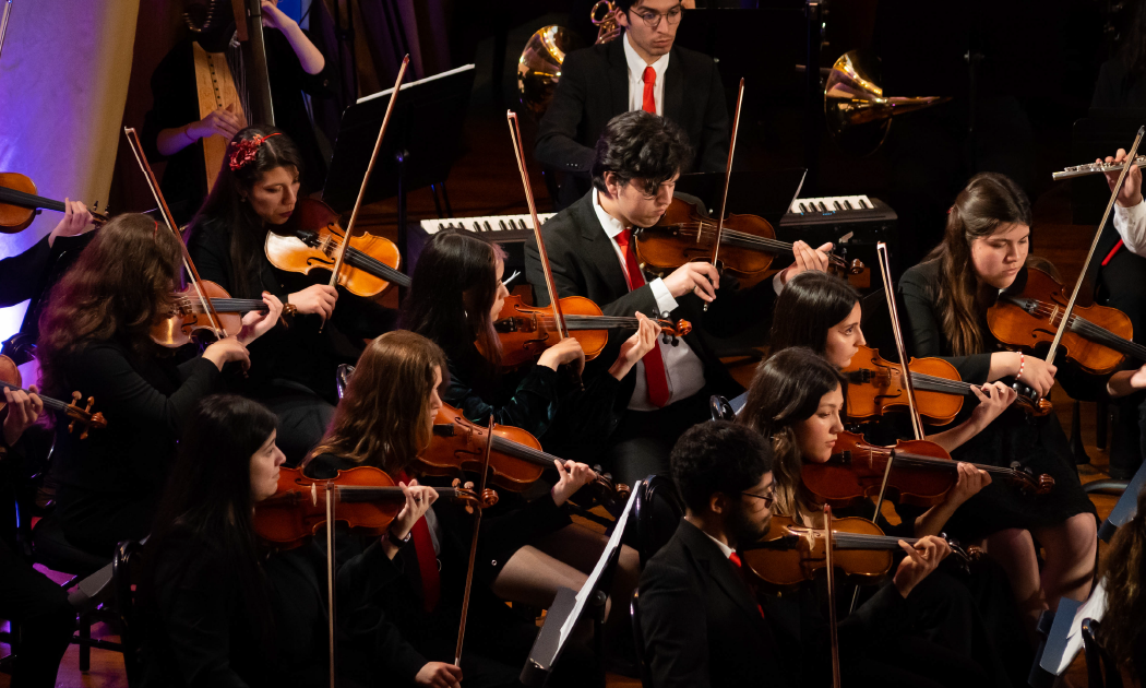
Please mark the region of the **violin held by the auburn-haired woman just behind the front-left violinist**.
MULTIPOLYGON (((521 492, 541 479, 547 469, 552 469, 554 461, 564 462, 564 459, 541 451, 537 438, 520 428, 497 424, 493 428, 489 467, 493 469, 490 480, 497 487, 521 492)), ((444 404, 434 417, 433 439, 418 456, 419 469, 435 476, 476 471, 481 466, 488 436, 486 428, 444 404)), ((606 507, 623 507, 629 499, 628 485, 613 483, 612 477, 599 470, 590 485, 596 500, 606 507)))

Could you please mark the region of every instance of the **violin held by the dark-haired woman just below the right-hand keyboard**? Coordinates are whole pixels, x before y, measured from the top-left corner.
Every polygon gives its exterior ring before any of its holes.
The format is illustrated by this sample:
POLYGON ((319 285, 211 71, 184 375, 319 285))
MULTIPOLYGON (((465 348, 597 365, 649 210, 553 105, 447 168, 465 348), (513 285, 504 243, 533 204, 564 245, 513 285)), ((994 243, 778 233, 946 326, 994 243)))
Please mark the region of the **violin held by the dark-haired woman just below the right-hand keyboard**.
MULTIPOLYGON (((955 366, 941 358, 912 358, 908 363, 917 392, 919 415, 935 425, 945 425, 959 415, 964 397, 974 397, 970 382, 963 382, 955 366)), ((848 381, 848 419, 864 420, 884 415, 885 411, 909 407, 903 373, 897 363, 884 359, 874 349, 859 346, 859 352, 842 370, 848 381)), ((1051 402, 1037 402, 1027 397, 1015 399, 1019 408, 1033 414, 1050 412, 1051 402)))

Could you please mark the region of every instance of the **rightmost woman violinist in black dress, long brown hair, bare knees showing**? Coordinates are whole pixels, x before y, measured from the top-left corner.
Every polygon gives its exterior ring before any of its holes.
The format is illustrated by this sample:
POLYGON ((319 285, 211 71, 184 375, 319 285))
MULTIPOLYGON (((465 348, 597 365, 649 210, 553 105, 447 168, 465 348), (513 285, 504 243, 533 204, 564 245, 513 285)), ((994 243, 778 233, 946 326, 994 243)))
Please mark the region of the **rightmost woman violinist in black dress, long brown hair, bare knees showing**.
MULTIPOLYGON (((1036 355, 1003 350, 987 327, 987 308, 999 290, 1026 280, 1030 224, 1030 203, 1018 185, 995 173, 971 179, 949 211, 943 242, 900 280, 909 354, 941 357, 965 382, 1014 378, 1043 397, 1057 376, 1068 392, 1094 384, 1036 355)), ((1034 417, 1011 407, 952 458, 1003 467, 1018 462, 1054 478, 1054 490, 1037 497, 995 482, 956 511, 948 531, 964 541, 986 538, 1031 620, 1042 609, 1055 609, 1063 595, 1086 599, 1098 541, 1096 511, 1058 416, 1034 417), (1044 552, 1042 571, 1034 538, 1044 552)))

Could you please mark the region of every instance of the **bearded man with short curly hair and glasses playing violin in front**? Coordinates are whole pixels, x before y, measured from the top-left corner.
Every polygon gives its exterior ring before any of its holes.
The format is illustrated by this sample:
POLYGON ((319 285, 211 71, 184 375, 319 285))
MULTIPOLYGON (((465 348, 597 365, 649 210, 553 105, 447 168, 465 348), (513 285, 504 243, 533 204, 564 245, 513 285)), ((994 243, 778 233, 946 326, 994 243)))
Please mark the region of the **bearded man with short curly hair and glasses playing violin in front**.
MULTIPOLYGON (((727 421, 694 425, 673 449, 673 479, 685 516, 645 565, 637 602, 644 638, 638 650, 657 688, 740 686, 749 677, 770 687, 826 685, 830 646, 818 609, 799 594, 758 597, 736 554, 768 532, 771 470, 771 441, 727 421)), ((894 584, 840 623, 845 670, 866 662, 873 650, 904 647, 894 639, 910 624, 906 597, 950 553, 934 537, 916 547, 896 570, 894 584)), ((940 671, 958 673, 956 667, 940 671)), ((856 680, 848 685, 868 685, 863 675, 851 673, 856 680)), ((886 675, 886 685, 939 686, 973 685, 955 681, 974 674, 934 683, 894 670, 886 675)))

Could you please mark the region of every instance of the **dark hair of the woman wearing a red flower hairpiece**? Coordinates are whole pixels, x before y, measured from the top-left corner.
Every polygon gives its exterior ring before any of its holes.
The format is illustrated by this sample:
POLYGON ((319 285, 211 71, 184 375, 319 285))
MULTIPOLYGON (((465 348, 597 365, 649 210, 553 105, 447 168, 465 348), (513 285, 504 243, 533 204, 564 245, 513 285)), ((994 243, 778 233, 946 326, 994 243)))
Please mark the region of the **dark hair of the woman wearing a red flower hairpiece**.
POLYGON ((230 291, 237 298, 258 298, 262 291, 257 275, 267 230, 244 196, 250 195, 262 175, 275 167, 293 167, 299 177, 303 175, 303 156, 286 134, 272 126, 249 126, 238 132, 227 146, 227 155, 211 194, 191 219, 188 241, 198 232, 229 234, 230 291), (259 144, 253 162, 238 170, 230 169, 230 154, 236 142, 269 134, 277 135, 259 144))

